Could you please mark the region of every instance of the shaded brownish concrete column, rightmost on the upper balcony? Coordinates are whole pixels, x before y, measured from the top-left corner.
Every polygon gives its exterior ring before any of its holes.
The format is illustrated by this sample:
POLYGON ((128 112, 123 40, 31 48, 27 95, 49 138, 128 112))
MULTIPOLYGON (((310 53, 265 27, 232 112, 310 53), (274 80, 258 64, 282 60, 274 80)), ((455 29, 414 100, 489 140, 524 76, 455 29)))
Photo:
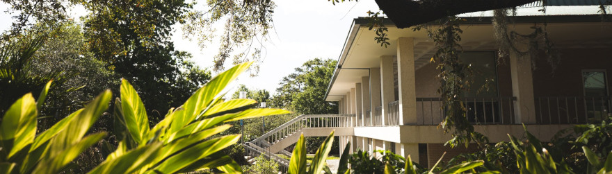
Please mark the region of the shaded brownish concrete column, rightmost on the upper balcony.
POLYGON ((536 105, 533 100, 533 77, 529 55, 516 55, 510 51, 510 71, 512 74, 512 93, 517 101, 516 123, 536 123, 536 105))

